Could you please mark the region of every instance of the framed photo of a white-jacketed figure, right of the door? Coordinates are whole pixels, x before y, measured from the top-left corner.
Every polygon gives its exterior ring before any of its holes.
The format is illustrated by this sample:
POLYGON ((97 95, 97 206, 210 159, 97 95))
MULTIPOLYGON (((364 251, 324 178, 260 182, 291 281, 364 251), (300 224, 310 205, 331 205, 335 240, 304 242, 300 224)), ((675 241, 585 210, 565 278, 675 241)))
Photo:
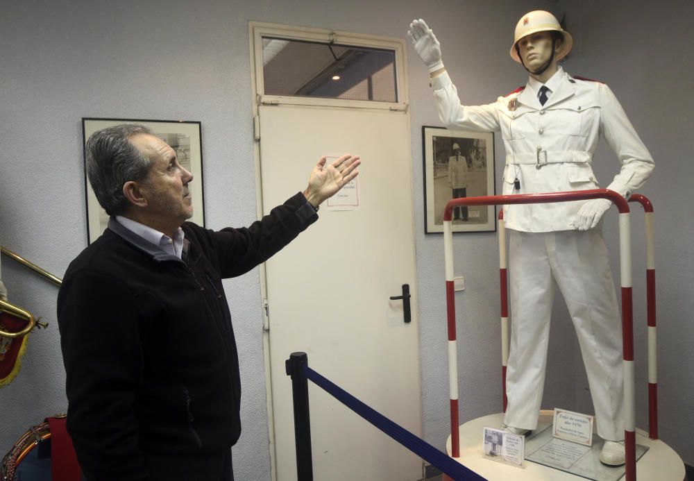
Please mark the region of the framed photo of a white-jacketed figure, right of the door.
MULTIPOLYGON (((422 127, 425 233, 443 233, 443 210, 451 199, 491 196, 494 135, 441 127, 422 127)), ((496 231, 496 206, 454 208, 452 231, 496 231)))

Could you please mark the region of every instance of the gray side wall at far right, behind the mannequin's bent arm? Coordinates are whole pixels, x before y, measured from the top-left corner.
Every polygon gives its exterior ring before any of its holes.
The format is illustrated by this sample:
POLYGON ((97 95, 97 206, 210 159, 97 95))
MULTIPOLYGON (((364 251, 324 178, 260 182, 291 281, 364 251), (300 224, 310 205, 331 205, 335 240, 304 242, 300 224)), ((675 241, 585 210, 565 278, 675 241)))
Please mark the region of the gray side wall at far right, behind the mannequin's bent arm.
MULTIPOLYGON (((632 1, 625 8, 616 1, 570 3, 569 28, 577 33, 568 69, 610 85, 656 162, 652 178, 640 190, 654 205, 659 436, 687 464, 694 464, 694 446, 686 431, 694 428, 694 300, 691 296, 694 223, 688 214, 688 191, 694 178, 691 148, 694 128, 689 95, 694 74, 691 18, 694 3, 673 0, 632 1)), ((609 182, 614 155, 603 144, 595 155, 598 178, 609 182)), ((643 209, 632 204, 634 257, 634 339, 636 359, 636 425, 648 428, 647 332, 645 312, 645 250, 643 209)), ((611 213, 613 217, 616 214, 611 213)), ((606 224, 613 273, 618 282, 618 232, 606 224)), ((583 373, 577 358, 577 371, 583 373)), ((577 389, 579 409, 589 410, 587 382, 577 389)))

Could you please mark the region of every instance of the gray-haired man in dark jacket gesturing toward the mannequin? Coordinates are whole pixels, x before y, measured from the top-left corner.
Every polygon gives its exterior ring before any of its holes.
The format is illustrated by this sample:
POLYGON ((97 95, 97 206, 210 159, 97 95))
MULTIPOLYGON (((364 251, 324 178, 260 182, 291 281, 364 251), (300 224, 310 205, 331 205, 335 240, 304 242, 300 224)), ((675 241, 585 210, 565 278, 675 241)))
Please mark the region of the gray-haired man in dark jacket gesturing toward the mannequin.
POLYGON ((70 264, 58 295, 68 431, 87 480, 233 479, 239 360, 223 278, 264 262, 357 176, 321 158, 308 187, 248 228, 187 222, 193 180, 143 126, 87 141, 108 229, 70 264))

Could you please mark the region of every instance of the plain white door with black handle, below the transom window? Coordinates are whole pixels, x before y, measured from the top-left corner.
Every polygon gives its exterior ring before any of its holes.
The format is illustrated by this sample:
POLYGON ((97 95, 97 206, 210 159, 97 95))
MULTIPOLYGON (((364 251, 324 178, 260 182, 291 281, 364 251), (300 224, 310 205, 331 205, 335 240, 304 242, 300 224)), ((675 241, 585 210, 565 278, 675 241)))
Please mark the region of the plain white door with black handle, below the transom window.
MULTIPOLYGON (((412 155, 402 111, 260 107, 264 213, 305 187, 321 155, 356 153, 358 205, 320 219, 266 262, 277 479, 296 480, 285 360, 309 366, 421 436, 412 155), (402 285, 412 293, 403 319, 402 285)), ((354 197, 352 198, 352 200, 354 197)), ((309 382, 314 479, 414 481, 421 459, 309 382)))

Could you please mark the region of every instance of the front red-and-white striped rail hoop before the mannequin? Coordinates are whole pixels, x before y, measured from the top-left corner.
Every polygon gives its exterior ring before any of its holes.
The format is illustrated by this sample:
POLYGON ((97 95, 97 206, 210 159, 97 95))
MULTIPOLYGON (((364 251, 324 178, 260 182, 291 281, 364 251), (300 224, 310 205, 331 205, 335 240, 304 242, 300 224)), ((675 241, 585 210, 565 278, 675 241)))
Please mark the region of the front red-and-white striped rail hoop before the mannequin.
MULTIPOLYGON (((619 211, 619 258, 622 287, 622 346, 625 403, 626 481, 636 480, 636 403, 634 400, 634 329, 632 312, 632 246, 629 223, 629 205, 617 192, 609 189, 590 189, 577 192, 553 192, 548 194, 518 194, 507 196, 482 196, 452 199, 443 212, 443 251, 446 262, 446 302, 448 313, 448 376, 451 407, 451 455, 460 457, 458 424, 457 348, 455 332, 455 298, 453 289, 453 236, 452 210, 464 205, 505 205, 527 203, 555 203, 608 199, 619 211), (455 412, 454 412, 455 410, 455 412)), ((505 256, 503 258, 505 265, 505 256)), ((503 321, 502 321, 503 322, 503 321)), ((502 348, 503 349, 503 348, 502 348)), ((502 354, 503 355, 503 354, 502 354)))

